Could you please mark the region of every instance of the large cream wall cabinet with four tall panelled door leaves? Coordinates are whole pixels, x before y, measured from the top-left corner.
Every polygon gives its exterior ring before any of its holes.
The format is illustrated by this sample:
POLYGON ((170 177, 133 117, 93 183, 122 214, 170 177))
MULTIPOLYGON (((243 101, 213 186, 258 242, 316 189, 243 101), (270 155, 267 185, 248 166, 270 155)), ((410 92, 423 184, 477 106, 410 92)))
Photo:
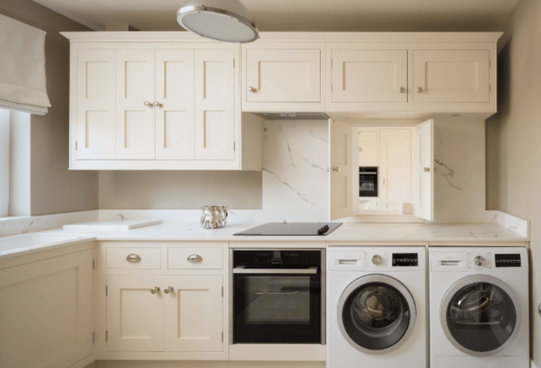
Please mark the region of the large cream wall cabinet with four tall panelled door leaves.
POLYGON ((261 120, 241 128, 240 47, 126 33, 65 33, 70 168, 261 169, 261 120))

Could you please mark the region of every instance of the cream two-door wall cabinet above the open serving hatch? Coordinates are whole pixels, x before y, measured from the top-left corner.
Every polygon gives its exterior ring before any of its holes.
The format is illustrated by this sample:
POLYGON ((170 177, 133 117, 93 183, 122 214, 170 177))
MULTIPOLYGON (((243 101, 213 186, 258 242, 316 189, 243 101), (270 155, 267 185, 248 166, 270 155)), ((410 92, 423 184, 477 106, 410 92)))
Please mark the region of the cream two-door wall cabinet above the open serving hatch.
POLYGON ((487 118, 497 111, 496 42, 502 33, 342 35, 342 42, 326 42, 331 117, 487 118))

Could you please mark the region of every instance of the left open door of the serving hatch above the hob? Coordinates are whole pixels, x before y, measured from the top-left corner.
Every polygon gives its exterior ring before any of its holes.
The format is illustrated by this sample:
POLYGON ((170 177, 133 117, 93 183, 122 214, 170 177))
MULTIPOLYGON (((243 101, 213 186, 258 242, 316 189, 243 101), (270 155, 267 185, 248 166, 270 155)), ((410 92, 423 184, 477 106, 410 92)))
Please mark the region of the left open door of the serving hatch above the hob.
POLYGON ((329 136, 329 212, 338 220, 353 215, 353 127, 329 120, 329 136))

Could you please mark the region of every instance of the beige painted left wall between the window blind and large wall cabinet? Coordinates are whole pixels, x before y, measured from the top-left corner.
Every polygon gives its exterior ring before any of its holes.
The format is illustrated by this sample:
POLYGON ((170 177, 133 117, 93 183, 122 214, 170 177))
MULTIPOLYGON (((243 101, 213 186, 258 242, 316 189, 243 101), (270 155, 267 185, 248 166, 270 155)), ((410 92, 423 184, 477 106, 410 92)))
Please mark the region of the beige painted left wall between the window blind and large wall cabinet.
POLYGON ((47 32, 47 93, 52 107, 31 117, 31 199, 29 215, 97 209, 97 172, 68 171, 69 42, 60 31, 85 26, 30 0, 2 0, 0 13, 47 32))

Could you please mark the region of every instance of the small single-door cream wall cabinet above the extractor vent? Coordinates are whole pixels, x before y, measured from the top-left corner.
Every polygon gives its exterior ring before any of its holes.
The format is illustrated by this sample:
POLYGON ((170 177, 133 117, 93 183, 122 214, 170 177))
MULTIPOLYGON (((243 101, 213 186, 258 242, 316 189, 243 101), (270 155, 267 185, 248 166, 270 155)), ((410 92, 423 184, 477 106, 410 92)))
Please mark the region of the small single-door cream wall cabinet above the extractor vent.
POLYGON ((324 52, 322 43, 243 45, 242 110, 325 110, 324 52))

